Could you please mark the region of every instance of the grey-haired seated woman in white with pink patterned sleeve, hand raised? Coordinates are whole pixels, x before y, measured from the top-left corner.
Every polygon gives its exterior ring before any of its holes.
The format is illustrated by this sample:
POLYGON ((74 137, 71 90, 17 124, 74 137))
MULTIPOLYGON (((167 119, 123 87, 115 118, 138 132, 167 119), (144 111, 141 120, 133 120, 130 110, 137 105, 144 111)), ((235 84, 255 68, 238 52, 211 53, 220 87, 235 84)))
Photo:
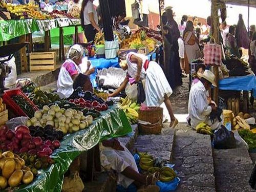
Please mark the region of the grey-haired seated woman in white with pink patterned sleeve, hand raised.
MULTIPOLYGON (((69 97, 74 89, 73 89, 73 81, 74 79, 82 73, 79 65, 82 62, 84 50, 80 45, 74 45, 70 48, 66 61, 62 64, 58 76, 57 82, 57 92, 62 93, 65 97, 69 97)), ((84 73, 85 75, 90 75, 94 73, 95 69, 90 69, 91 63, 87 64, 87 71, 84 73)))

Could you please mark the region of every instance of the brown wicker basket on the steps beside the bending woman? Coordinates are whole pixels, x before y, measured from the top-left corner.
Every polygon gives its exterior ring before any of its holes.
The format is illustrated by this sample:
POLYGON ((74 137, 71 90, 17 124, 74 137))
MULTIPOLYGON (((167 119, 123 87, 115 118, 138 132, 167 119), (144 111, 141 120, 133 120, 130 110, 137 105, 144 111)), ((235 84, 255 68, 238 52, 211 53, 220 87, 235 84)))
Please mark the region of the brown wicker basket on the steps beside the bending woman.
POLYGON ((146 135, 160 134, 163 127, 163 109, 160 106, 150 106, 149 108, 150 110, 146 111, 139 110, 139 132, 146 135))

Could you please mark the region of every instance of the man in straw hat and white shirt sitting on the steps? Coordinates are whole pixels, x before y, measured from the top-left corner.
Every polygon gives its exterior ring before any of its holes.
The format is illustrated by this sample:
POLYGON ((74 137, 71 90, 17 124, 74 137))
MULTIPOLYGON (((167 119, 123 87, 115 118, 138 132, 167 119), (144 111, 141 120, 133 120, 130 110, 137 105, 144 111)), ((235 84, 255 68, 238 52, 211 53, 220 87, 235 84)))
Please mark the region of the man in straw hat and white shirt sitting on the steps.
POLYGON ((207 123, 212 130, 217 129, 222 121, 219 122, 217 119, 214 123, 210 120, 210 113, 217 111, 216 105, 209 105, 207 100, 207 91, 211 86, 217 87, 215 83, 215 75, 209 70, 205 70, 203 74, 198 73, 200 80, 190 90, 188 99, 188 114, 190 117, 190 123, 193 129, 201 123, 207 123))

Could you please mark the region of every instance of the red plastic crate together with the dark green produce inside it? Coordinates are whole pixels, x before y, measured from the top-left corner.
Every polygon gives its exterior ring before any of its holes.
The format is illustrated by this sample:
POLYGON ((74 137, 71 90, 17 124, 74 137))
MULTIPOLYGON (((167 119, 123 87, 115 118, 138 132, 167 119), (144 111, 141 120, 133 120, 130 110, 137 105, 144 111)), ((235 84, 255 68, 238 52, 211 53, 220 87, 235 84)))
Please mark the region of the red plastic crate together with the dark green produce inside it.
POLYGON ((3 101, 9 106, 17 116, 33 117, 35 111, 38 110, 36 105, 20 90, 4 91, 3 101))

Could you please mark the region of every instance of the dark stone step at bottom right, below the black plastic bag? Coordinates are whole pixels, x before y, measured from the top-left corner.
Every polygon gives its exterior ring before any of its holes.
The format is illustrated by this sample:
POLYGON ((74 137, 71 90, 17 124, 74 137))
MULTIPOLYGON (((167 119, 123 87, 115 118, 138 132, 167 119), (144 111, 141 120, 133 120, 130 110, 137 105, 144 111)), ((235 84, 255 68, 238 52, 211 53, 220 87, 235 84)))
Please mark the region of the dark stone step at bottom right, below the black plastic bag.
POLYGON ((253 164, 246 148, 213 150, 216 191, 254 191, 248 184, 253 164))

